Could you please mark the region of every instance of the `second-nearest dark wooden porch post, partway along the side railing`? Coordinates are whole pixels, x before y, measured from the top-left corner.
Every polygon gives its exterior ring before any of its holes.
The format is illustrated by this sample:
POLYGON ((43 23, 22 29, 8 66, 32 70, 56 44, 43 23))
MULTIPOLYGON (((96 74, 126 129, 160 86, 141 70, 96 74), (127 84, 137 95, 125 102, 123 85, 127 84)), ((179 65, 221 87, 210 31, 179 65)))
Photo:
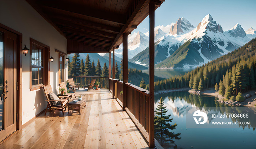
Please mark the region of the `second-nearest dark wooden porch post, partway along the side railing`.
POLYGON ((128 82, 128 34, 123 34, 123 110, 127 107, 127 89, 124 83, 128 82))

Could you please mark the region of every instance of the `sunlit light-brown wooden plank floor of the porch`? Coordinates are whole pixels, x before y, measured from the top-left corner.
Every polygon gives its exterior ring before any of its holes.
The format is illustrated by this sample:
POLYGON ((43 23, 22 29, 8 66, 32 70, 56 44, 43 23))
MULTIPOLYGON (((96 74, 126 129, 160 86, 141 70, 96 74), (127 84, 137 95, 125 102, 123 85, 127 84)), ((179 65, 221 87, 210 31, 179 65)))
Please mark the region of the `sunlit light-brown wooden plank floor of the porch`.
POLYGON ((106 90, 79 89, 86 98, 81 115, 76 111, 41 114, 0 143, 0 149, 148 148, 147 142, 106 90))

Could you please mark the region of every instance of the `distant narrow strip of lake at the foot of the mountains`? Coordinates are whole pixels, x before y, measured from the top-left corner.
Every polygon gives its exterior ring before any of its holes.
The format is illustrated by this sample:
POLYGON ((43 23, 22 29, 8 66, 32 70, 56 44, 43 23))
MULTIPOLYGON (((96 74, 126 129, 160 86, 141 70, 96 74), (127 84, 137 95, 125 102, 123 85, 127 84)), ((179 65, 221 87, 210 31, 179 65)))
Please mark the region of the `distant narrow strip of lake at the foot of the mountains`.
MULTIPOLYGON (((190 72, 194 68, 189 69, 158 69, 155 68, 155 76, 161 77, 161 78, 170 78, 174 76, 179 76, 180 74, 185 75, 185 73, 190 72)), ((142 72, 145 72, 149 74, 149 69, 142 70, 142 72)))

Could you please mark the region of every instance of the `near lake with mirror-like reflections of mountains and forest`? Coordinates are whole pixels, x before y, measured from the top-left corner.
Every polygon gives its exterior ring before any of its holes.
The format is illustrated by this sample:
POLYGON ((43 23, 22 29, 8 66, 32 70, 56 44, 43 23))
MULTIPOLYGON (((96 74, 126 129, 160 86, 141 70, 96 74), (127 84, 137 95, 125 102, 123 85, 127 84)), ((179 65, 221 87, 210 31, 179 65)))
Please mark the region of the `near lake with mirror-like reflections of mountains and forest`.
MULTIPOLYGON (((186 129, 186 108, 187 107, 230 107, 217 102, 217 98, 207 95, 194 95, 189 92, 170 92, 155 95, 155 108, 159 99, 164 99, 167 110, 166 115, 171 114, 171 124, 177 123, 174 133, 181 133, 180 140, 174 140, 178 149, 239 149, 256 148, 256 108, 251 107, 253 118, 249 119, 250 125, 235 126, 236 128, 187 128, 186 129), (254 127, 254 129, 253 129, 254 127)), ((234 107, 236 108, 236 107, 234 107)), ((222 111, 223 112, 223 111, 222 111)), ((224 111, 225 112, 225 111, 224 111)), ((165 147, 166 148, 166 147, 165 147)))

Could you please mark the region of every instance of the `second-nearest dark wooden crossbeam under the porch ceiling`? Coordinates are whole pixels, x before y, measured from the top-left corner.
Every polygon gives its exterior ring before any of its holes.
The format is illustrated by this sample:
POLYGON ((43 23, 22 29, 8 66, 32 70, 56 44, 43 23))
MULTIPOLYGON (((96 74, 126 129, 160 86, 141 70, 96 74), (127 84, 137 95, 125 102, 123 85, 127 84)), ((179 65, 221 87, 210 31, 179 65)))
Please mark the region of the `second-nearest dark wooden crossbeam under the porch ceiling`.
POLYGON ((91 21, 79 19, 79 18, 74 18, 74 17, 61 16, 61 15, 53 15, 53 16, 51 15, 49 17, 54 19, 56 22, 57 22, 57 19, 59 19, 59 20, 66 20, 66 21, 70 21, 70 22, 76 22, 79 24, 83 24, 84 26, 101 28, 103 30, 112 31, 114 33, 119 33, 119 31, 120 31, 120 27, 108 26, 105 24, 95 23, 95 22, 91 22, 91 21))

